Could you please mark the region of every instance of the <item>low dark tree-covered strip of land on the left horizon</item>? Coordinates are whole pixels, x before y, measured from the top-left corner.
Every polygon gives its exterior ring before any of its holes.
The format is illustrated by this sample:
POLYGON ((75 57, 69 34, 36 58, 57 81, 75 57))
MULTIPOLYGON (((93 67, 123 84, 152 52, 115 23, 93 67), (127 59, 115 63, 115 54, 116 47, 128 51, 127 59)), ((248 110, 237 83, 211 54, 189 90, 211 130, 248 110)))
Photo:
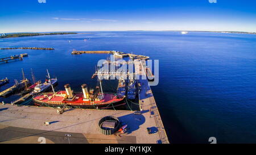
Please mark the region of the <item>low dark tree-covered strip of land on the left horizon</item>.
POLYGON ((9 38, 9 37, 24 37, 24 36, 45 36, 45 35, 69 35, 77 34, 75 32, 53 32, 53 33, 3 33, 0 38, 9 38))

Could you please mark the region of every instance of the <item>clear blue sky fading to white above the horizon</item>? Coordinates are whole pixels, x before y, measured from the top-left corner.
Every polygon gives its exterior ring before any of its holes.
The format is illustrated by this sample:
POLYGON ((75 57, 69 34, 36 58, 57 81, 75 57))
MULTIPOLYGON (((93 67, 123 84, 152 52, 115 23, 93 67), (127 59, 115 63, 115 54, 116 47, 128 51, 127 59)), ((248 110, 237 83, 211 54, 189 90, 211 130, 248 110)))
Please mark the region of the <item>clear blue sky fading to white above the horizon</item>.
POLYGON ((1 32, 246 31, 256 32, 255 0, 6 0, 1 32))

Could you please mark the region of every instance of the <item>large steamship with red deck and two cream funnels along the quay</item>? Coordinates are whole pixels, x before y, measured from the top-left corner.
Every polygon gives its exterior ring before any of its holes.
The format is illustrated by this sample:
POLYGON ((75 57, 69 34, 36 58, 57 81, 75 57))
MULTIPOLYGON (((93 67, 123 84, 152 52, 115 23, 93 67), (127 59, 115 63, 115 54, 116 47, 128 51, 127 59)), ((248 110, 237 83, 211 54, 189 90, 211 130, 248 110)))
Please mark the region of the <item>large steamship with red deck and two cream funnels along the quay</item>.
MULTIPOLYGON (((100 81, 100 78, 98 78, 100 81)), ((51 83, 51 82, 50 82, 51 83)), ((125 96, 119 97, 112 93, 103 93, 101 81, 100 87, 88 91, 87 85, 83 84, 82 92, 73 93, 69 84, 66 84, 65 91, 55 93, 52 86, 52 93, 42 93, 33 97, 36 105, 49 107, 72 107, 72 108, 97 108, 105 109, 122 106, 125 103, 125 96)))

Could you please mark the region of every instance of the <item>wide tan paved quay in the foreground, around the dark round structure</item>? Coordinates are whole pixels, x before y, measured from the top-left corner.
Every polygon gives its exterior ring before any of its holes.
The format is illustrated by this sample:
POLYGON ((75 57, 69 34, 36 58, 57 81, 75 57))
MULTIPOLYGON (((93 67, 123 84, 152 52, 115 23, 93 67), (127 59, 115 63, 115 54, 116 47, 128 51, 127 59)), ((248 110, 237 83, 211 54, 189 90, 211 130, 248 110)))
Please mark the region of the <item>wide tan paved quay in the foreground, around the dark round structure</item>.
POLYGON ((0 104, 0 143, 68 143, 65 135, 71 134, 71 143, 158 143, 159 134, 147 133, 155 120, 148 110, 142 115, 132 111, 68 109, 58 114, 56 108, 0 104), (105 136, 98 129, 98 121, 113 115, 128 124, 125 135, 105 136), (44 122, 49 122, 45 125, 44 122))

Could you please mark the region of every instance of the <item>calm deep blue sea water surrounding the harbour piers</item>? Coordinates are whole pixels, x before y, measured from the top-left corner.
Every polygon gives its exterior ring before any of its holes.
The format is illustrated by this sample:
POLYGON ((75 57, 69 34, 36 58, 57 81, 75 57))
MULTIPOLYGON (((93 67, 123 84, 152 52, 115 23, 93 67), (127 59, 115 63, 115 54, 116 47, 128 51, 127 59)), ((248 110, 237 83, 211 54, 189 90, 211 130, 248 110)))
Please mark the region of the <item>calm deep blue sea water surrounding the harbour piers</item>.
MULTIPOLYGON (((212 32, 81 32, 77 35, 1 39, 0 47, 52 47, 55 51, 1 50, 0 56, 28 53, 23 61, 0 64, 0 78, 44 79, 46 69, 70 83, 96 85, 90 77, 105 54, 71 55, 76 50, 116 50, 158 59, 160 80, 152 91, 172 143, 256 143, 256 35, 212 32), (87 39, 87 41, 84 41, 87 39), (69 43, 69 40, 72 40, 69 43)), ((115 85, 104 88, 115 90, 115 85)), ((0 98, 6 102, 10 98, 0 98)))

